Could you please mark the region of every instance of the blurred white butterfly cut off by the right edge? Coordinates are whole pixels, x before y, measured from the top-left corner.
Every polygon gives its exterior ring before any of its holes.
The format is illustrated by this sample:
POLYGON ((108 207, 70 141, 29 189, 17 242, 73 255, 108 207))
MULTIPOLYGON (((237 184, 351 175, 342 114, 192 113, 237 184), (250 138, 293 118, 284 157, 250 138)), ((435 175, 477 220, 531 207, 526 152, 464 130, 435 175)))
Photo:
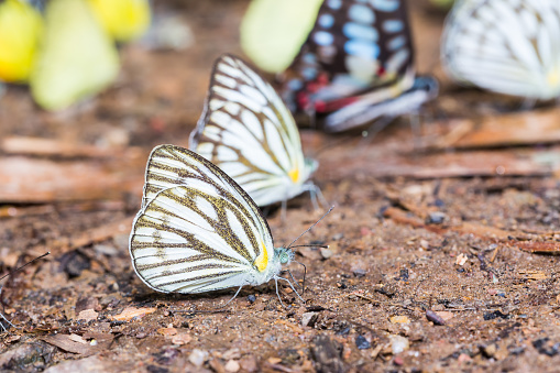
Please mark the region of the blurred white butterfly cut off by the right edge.
POLYGON ((560 1, 459 1, 446 21, 441 58, 458 81, 527 99, 558 98, 560 1))

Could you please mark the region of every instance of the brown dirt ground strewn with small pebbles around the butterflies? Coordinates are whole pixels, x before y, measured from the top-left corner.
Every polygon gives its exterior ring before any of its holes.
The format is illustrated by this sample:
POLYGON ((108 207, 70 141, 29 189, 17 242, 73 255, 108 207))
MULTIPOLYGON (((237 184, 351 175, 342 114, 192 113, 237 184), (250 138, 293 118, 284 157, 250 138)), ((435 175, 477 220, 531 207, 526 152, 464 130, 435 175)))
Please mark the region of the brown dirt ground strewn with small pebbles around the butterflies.
MULTIPOLYGON (((84 162, 109 167, 122 161, 121 155, 140 152, 129 172, 141 179, 152 146, 186 146, 201 111, 211 62, 222 52, 240 51, 237 30, 245 6, 230 0, 193 0, 175 8, 169 3, 193 28, 196 45, 180 53, 124 47, 114 87, 72 112, 42 112, 25 88, 11 87, 0 101, 0 138, 118 145, 118 156, 84 162)), ((424 3, 415 3, 413 11, 419 70, 432 72, 442 84, 441 98, 422 114, 425 134, 433 135, 451 118, 498 116, 519 105, 451 85, 438 63, 443 14, 424 3)), ((304 131, 303 139, 306 152, 320 162, 316 184, 337 206, 301 239, 330 249, 296 253, 308 268, 306 304, 284 289, 290 306, 281 307, 271 283, 244 288, 223 311, 191 312, 212 310, 232 293, 174 296, 149 289, 135 276, 128 253, 130 217, 140 205, 138 182, 130 190, 107 190, 110 198, 4 202, 2 270, 46 250, 52 254, 3 283, 4 315, 19 329, 0 334, 0 367, 558 371, 558 259, 521 250, 542 244, 553 251, 558 245, 558 174, 399 174, 403 162, 416 171, 443 169, 457 155, 415 152, 406 119, 367 144, 311 131, 304 131), (393 165, 395 158, 404 161, 393 165), (380 176, 384 164, 396 169, 393 176, 380 176), (428 320, 427 311, 444 325, 428 320)), ((471 166, 479 162, 494 169, 496 165, 486 163, 496 152, 512 156, 519 149, 485 150, 479 158, 469 152, 459 155, 472 154, 471 166)), ((14 162, 18 156, 2 157, 14 162)), ((28 158, 81 162, 57 155, 28 158)), ((64 184, 75 176, 48 177, 64 184)), ((286 223, 273 211, 268 221, 276 244, 290 242, 322 212, 314 211, 308 196, 290 202, 286 223)), ((301 277, 300 267, 292 270, 301 277)))

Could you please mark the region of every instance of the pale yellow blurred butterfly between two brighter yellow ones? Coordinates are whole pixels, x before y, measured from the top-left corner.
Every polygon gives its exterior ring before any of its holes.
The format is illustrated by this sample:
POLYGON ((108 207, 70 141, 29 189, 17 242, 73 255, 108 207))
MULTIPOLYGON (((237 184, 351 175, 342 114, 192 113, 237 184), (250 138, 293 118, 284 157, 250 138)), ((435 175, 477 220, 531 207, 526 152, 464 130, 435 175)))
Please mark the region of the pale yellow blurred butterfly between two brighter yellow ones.
POLYGON ((119 53, 86 1, 48 1, 44 22, 30 78, 33 98, 41 107, 66 109, 117 78, 119 53))

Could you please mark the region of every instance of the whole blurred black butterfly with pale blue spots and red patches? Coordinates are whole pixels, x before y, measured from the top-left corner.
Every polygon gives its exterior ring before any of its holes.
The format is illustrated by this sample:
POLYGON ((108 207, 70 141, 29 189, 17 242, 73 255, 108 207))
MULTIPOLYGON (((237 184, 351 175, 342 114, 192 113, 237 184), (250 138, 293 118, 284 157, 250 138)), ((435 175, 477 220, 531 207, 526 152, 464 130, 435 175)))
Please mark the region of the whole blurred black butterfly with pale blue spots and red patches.
POLYGON ((325 0, 281 80, 289 108, 325 113, 329 132, 415 111, 438 91, 416 77, 404 0, 325 0))

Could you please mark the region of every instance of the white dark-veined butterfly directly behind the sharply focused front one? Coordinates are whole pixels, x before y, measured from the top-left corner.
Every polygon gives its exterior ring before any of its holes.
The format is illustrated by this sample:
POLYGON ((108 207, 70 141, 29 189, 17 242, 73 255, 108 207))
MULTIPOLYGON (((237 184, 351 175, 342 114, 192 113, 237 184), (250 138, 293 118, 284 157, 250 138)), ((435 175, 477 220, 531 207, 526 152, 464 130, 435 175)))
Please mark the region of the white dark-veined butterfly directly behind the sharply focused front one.
POLYGON ((259 206, 311 193, 317 161, 304 158, 299 132, 274 88, 243 61, 222 55, 216 62, 205 110, 189 149, 233 178, 259 206))

